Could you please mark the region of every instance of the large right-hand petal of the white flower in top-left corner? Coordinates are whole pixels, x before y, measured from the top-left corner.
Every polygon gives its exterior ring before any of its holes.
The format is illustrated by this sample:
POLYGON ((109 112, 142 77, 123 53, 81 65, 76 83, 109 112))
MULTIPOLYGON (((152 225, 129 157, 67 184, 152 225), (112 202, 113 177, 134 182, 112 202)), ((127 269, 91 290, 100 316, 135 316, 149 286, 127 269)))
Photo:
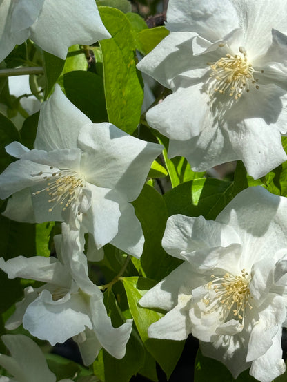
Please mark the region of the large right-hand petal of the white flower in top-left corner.
POLYGON ((63 60, 71 45, 91 45, 110 37, 93 0, 45 1, 30 31, 35 43, 63 60))

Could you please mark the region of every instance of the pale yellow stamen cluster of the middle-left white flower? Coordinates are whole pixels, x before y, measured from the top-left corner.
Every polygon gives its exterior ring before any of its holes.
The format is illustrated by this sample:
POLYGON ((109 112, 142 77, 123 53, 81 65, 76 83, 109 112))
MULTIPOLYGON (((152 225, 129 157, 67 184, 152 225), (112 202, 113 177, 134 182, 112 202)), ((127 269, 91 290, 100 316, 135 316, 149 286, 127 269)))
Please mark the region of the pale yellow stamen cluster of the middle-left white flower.
MULTIPOLYGON (((53 167, 50 166, 50 169, 52 168, 53 167)), ((40 172, 37 176, 42 174, 43 172, 40 172)), ((47 182, 47 187, 36 191, 33 195, 39 195, 39 193, 46 191, 48 195, 50 195, 48 202, 54 204, 48 211, 52 212, 58 204, 60 204, 63 211, 65 211, 68 206, 79 198, 85 180, 79 173, 68 169, 48 174, 49 176, 43 177, 47 182)))

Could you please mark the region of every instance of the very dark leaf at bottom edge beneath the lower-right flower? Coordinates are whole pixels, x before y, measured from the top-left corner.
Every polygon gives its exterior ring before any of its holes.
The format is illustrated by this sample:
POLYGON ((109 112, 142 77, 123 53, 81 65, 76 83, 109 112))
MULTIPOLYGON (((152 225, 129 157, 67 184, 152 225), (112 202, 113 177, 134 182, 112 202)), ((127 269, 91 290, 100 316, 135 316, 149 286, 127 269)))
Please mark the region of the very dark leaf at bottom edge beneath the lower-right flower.
POLYGON ((255 382, 250 376, 249 370, 242 372, 237 379, 232 377, 226 366, 215 359, 204 357, 200 350, 195 359, 195 379, 194 382, 255 382), (212 372, 210 373, 210 370, 212 372))

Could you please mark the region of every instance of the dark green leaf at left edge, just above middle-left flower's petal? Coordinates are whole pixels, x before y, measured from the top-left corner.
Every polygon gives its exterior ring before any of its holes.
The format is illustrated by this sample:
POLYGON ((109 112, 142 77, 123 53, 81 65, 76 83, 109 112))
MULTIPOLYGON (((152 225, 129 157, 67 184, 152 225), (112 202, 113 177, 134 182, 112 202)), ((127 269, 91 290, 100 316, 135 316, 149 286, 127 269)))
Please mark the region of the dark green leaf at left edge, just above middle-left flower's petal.
POLYGON ((5 146, 14 140, 21 141, 19 132, 14 123, 0 113, 0 173, 6 169, 12 162, 13 158, 5 151, 5 146))

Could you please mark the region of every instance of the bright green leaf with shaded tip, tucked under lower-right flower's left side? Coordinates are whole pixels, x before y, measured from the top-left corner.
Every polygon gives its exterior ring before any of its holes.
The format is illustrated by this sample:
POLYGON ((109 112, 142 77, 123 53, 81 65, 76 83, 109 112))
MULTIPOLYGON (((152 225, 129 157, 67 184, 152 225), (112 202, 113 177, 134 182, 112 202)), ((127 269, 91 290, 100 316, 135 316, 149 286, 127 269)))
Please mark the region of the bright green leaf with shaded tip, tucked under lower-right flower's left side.
POLYGON ((128 297, 130 312, 135 320, 141 340, 169 378, 184 348, 184 341, 148 338, 148 327, 151 323, 158 321, 163 315, 154 310, 142 308, 139 306, 138 301, 146 293, 146 290, 154 285, 155 282, 150 279, 143 279, 142 277, 123 278, 123 286, 128 297))

